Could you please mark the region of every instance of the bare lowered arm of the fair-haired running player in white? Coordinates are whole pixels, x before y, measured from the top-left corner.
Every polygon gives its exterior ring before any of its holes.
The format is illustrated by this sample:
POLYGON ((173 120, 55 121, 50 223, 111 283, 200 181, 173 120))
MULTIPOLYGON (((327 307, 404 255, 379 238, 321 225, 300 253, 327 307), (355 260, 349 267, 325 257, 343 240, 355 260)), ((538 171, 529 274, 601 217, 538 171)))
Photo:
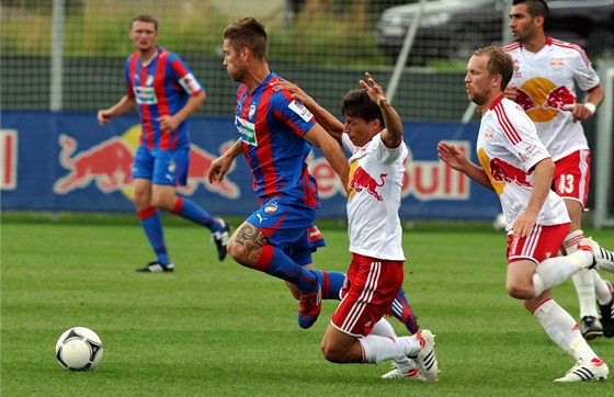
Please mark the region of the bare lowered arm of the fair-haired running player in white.
POLYGON ((550 192, 550 185, 555 174, 555 163, 552 158, 543 159, 534 166, 534 169, 533 192, 531 193, 524 213, 514 220, 514 236, 525 237, 528 235, 533 226, 537 223, 539 211, 550 192))

